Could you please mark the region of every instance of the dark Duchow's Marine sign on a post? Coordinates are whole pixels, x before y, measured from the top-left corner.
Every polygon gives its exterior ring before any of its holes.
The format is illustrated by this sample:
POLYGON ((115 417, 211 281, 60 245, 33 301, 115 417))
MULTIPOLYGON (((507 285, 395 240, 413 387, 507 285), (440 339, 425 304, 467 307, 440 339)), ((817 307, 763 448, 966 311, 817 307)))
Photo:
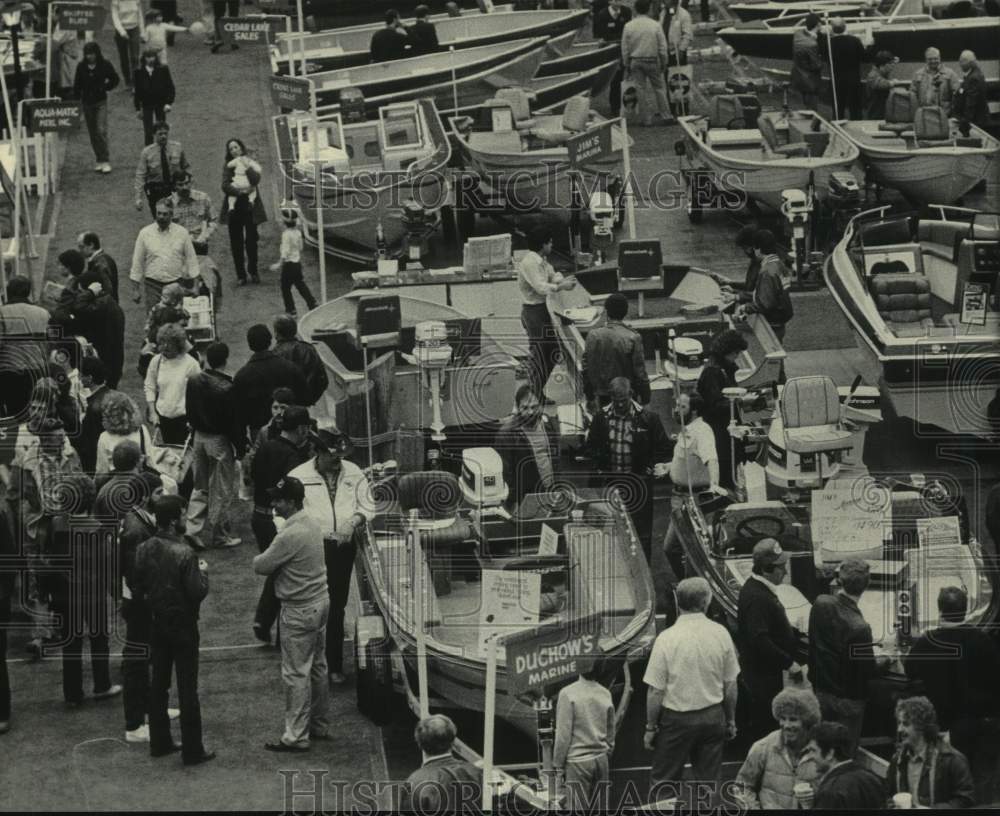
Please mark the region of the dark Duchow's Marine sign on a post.
POLYGON ((590 615, 507 637, 507 691, 516 696, 575 678, 602 654, 600 624, 600 615, 590 615))

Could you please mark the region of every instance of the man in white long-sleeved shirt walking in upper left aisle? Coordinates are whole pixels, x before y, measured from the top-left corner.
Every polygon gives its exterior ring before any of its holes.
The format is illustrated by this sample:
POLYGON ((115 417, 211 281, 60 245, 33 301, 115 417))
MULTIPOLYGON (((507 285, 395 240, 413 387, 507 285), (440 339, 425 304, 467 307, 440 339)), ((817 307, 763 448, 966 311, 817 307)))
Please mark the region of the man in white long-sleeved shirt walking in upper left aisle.
POLYGON ((139 230, 135 239, 129 279, 136 303, 142 301, 144 282, 147 303, 156 303, 168 283, 190 288, 201 273, 191 233, 173 223, 173 217, 173 202, 161 199, 156 203, 156 220, 139 230))

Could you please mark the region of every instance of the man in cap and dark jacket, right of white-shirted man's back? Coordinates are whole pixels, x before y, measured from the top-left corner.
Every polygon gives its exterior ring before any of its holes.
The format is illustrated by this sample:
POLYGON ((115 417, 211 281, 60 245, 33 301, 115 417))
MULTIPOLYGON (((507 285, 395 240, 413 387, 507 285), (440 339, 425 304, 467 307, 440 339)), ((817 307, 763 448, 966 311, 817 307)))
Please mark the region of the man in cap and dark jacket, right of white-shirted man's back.
POLYGON ((749 692, 750 742, 774 728, 771 701, 784 687, 782 672, 801 672, 795 661, 795 632, 777 595, 788 571, 788 553, 773 538, 753 548, 753 572, 740 588, 736 611, 743 685, 749 692))

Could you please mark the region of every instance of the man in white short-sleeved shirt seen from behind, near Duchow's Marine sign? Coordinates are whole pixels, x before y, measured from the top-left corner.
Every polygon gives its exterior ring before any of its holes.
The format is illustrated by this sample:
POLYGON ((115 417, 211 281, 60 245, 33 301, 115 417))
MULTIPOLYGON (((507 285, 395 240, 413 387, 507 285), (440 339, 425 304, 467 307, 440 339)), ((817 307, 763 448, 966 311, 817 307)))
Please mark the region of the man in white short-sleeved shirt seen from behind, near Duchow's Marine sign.
POLYGON ((712 590, 704 578, 677 585, 678 618, 653 644, 643 682, 646 733, 653 751, 650 802, 676 797, 678 807, 695 806, 699 783, 718 787, 722 749, 736 736, 736 647, 721 624, 705 616, 712 590), (682 783, 692 765, 690 795, 682 783))

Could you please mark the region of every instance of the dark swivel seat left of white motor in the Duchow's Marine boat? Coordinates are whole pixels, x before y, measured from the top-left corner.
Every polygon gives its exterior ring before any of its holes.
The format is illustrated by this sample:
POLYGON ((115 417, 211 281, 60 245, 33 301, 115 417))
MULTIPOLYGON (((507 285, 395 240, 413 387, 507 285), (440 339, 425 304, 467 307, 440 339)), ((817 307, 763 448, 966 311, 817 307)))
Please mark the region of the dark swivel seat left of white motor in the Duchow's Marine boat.
POLYGON ((424 470, 399 479, 399 508, 420 536, 438 596, 451 592, 453 577, 479 571, 479 535, 469 519, 459 515, 461 503, 462 491, 452 473, 424 470))

